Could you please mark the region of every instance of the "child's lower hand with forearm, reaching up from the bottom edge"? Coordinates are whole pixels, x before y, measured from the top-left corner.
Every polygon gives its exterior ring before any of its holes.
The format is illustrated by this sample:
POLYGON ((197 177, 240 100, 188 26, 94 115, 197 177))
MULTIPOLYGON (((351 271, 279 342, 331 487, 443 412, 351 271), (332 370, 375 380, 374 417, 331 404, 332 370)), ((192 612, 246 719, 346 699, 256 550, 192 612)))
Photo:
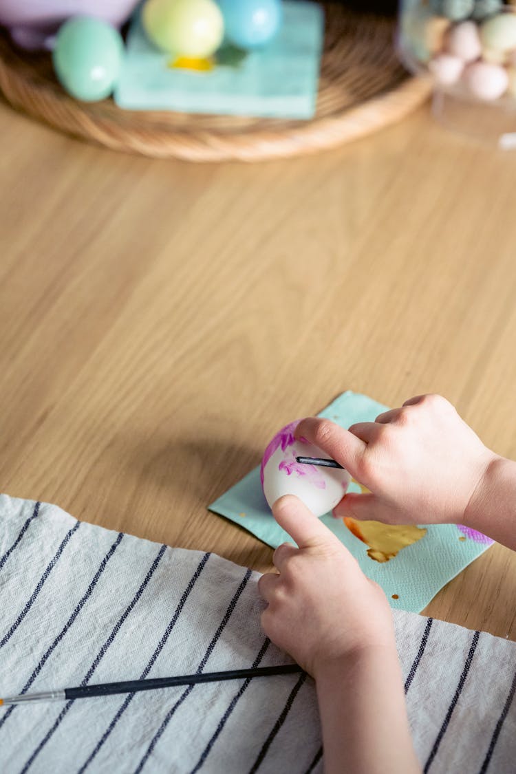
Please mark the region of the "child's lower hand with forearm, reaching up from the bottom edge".
POLYGON ((316 680, 326 774, 420 774, 387 598, 298 498, 272 512, 299 548, 258 581, 261 625, 316 680))

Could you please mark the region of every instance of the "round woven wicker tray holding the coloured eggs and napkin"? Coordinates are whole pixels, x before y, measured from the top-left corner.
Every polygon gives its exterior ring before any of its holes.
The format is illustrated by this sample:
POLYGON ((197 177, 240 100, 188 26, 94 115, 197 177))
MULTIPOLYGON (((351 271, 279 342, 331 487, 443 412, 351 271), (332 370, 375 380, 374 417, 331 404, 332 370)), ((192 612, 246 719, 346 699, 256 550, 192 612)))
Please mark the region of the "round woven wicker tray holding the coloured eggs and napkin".
POLYGON ((0 90, 14 108, 115 150, 189 161, 260 161, 339 146, 399 121, 429 96, 395 53, 395 20, 324 4, 316 115, 309 121, 125 111, 64 93, 49 54, 17 49, 0 32, 0 90))

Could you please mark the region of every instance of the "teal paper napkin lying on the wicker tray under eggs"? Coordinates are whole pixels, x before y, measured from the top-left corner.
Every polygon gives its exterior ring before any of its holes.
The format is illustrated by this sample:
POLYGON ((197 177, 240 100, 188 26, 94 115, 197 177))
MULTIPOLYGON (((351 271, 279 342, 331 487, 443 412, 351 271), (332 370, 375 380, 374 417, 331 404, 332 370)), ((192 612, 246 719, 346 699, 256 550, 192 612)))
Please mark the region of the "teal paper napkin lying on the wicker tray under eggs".
POLYGON ((170 67, 138 15, 129 30, 114 101, 128 110, 312 118, 316 109, 324 19, 313 2, 283 4, 279 34, 235 66, 209 72, 170 67))

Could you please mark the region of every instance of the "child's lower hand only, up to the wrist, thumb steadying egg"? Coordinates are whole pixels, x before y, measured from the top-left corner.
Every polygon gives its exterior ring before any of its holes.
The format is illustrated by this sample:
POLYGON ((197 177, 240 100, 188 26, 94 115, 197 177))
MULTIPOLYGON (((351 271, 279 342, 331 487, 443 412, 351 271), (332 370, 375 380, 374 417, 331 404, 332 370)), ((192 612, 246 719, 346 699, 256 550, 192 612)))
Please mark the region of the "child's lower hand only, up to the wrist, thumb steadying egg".
POLYGON ((279 546, 273 557, 279 574, 258 581, 268 602, 261 625, 272 642, 314 677, 367 649, 392 649, 384 592, 340 540, 293 495, 275 502, 272 512, 299 546, 279 546))

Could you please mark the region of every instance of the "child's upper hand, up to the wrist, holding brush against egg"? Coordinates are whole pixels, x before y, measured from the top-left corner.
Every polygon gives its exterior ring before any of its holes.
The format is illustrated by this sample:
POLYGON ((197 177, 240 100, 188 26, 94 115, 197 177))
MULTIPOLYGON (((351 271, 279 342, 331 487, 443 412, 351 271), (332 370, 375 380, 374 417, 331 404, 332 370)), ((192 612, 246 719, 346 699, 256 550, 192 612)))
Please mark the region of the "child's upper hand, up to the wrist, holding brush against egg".
POLYGON ((468 504, 498 459, 437 395, 405 401, 401 409, 349 430, 309 418, 296 427, 371 490, 345 495, 336 516, 391 524, 463 522, 468 504))

